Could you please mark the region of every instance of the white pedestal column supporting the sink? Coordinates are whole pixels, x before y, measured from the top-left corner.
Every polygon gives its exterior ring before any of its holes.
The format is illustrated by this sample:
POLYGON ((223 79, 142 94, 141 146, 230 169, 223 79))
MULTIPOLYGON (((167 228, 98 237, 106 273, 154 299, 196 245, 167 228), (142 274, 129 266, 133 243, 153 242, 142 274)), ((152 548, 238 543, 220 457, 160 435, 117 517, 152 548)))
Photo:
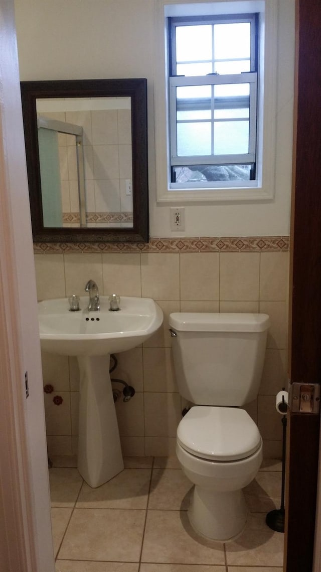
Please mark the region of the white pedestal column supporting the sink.
POLYGON ((109 363, 110 355, 78 356, 78 471, 93 488, 124 468, 109 363))

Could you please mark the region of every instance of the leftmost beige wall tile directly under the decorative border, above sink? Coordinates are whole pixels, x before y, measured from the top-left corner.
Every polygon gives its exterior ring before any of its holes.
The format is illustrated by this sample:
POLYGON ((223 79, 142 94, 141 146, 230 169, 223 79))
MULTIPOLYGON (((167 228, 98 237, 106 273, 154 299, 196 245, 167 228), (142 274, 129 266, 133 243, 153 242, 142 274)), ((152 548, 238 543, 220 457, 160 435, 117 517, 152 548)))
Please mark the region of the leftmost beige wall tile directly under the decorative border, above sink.
POLYGON ((36 254, 35 275, 38 300, 66 296, 62 254, 36 254))

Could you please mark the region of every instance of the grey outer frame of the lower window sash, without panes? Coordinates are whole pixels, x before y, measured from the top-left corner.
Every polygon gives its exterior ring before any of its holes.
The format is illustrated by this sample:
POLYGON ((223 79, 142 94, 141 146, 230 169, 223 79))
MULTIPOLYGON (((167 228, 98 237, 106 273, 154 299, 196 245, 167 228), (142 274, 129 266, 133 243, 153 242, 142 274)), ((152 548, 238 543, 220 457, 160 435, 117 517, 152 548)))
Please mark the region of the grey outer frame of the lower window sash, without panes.
MULTIPOLYGON (((222 165, 222 164, 247 164, 255 163, 256 156, 256 99, 257 99, 257 73, 247 72, 230 75, 210 76, 175 76, 169 78, 170 85, 170 149, 171 166, 175 165, 222 165), (176 88, 180 86, 199 85, 222 85, 222 84, 249 84, 250 85, 250 109, 249 109, 249 145, 248 153, 235 153, 228 155, 208 154, 205 156, 178 156, 177 155, 177 110, 176 88)), ((228 101, 228 98, 227 100, 228 101)), ((195 100, 196 104, 196 100, 195 100)), ((235 108, 244 106, 242 97, 235 98, 235 108), (236 101, 236 99, 238 101, 236 101)), ((199 106, 198 106, 199 108, 199 106)), ((207 120, 209 121, 209 120, 207 120)), ((217 120, 215 120, 217 121, 217 120)), ((214 118, 210 120, 214 124, 214 118)))

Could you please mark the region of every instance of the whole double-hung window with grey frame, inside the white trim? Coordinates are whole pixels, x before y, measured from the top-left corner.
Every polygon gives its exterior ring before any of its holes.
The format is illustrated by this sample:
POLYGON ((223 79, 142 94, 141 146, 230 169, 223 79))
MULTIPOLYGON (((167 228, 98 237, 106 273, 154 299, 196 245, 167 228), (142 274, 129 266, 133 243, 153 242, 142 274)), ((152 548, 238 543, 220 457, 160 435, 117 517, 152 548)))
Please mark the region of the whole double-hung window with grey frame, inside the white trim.
POLYGON ((167 18, 170 188, 257 180, 259 14, 167 18))

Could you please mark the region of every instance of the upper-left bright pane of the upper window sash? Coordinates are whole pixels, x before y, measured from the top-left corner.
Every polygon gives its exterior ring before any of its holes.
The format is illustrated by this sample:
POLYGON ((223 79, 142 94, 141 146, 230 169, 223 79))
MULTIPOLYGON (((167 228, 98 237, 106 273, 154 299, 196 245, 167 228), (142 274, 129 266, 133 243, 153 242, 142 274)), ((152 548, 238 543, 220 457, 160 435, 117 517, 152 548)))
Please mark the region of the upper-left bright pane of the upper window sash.
POLYGON ((176 62, 202 59, 212 59, 212 26, 177 26, 176 62))

